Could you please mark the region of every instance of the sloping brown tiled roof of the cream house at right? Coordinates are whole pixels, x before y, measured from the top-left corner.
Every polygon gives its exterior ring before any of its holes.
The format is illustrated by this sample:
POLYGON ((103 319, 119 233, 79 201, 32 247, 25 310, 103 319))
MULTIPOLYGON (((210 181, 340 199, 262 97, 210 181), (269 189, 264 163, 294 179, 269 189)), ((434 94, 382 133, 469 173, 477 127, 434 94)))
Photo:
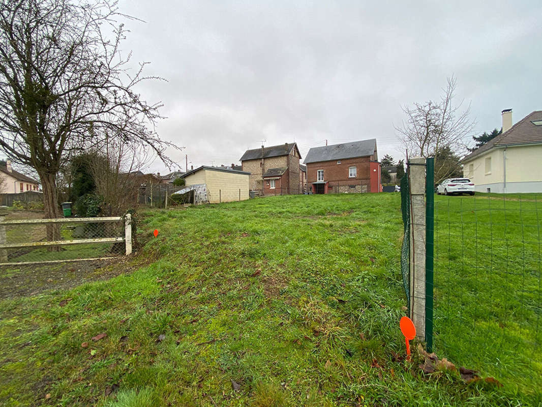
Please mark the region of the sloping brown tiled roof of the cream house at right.
POLYGON ((461 162, 469 161, 472 158, 496 147, 506 145, 537 144, 542 143, 542 126, 534 125, 532 122, 542 120, 542 110, 535 110, 519 120, 504 133, 488 141, 482 147, 474 150, 465 156, 461 162))

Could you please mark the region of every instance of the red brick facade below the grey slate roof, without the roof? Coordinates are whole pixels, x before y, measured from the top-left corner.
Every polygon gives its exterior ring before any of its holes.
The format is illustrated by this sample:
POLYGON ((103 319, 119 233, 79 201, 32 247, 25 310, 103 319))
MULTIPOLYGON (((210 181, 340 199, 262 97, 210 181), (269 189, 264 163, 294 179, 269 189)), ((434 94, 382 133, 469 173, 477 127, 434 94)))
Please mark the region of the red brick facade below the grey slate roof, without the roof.
POLYGON ((308 189, 312 189, 313 193, 326 194, 379 192, 380 168, 376 163, 377 171, 372 171, 375 168, 372 168, 374 166, 372 166, 371 158, 372 156, 307 163, 308 189), (356 168, 355 176, 351 176, 350 168, 356 168), (318 170, 324 170, 324 183, 320 183, 320 186, 313 183, 319 181, 318 170))

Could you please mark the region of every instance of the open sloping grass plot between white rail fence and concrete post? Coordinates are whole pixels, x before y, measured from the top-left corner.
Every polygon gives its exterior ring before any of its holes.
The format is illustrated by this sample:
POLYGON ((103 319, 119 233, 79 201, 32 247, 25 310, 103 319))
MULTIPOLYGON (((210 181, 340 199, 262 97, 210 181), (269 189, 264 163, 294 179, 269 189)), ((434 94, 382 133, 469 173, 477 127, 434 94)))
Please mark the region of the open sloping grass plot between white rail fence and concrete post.
POLYGON ((538 405, 403 360, 402 230, 399 194, 140 214, 147 265, 0 301, 0 403, 538 405))

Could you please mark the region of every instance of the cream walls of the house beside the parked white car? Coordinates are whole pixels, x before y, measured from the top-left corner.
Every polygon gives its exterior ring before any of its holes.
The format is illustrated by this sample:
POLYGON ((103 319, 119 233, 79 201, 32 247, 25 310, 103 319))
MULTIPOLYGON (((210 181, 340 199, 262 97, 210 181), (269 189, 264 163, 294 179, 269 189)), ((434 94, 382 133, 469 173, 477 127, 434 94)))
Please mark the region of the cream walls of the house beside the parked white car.
MULTIPOLYGON (((463 163, 463 176, 474 182, 476 190, 486 192, 537 192, 521 190, 514 183, 540 183, 542 182, 542 145, 524 145, 492 149, 481 154, 473 160, 463 163), (504 160, 506 154, 506 190, 504 160), (491 171, 486 171, 486 159, 491 158, 491 171), (492 187, 492 185, 494 187, 492 187)), ((532 187, 532 186, 531 186, 532 187)))

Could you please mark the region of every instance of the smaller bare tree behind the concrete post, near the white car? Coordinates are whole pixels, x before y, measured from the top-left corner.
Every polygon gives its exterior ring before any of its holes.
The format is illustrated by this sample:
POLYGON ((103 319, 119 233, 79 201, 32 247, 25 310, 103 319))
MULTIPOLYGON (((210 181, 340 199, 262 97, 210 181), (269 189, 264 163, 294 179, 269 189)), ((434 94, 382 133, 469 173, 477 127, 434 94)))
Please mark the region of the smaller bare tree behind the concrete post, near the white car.
MULTIPOLYGON (((454 105, 457 79, 447 79, 447 87, 438 102, 414 103, 403 106, 406 120, 395 126, 409 156, 435 157, 435 179, 454 173, 449 156, 461 156, 468 151, 474 121, 470 120, 470 106, 462 109, 462 102, 454 105), (440 159, 446 156, 447 159, 440 159)), ((459 161, 456 160, 456 161, 459 161)), ((459 165, 459 163, 457 163, 459 165)))

